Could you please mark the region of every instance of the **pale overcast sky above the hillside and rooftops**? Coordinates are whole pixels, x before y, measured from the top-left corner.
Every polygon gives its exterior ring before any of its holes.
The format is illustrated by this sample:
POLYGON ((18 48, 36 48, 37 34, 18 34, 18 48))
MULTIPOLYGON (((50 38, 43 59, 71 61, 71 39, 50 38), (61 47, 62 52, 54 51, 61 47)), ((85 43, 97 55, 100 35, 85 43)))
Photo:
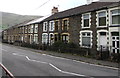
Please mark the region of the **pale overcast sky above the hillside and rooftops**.
POLYGON ((58 7, 59 11, 64 11, 86 3, 86 0, 1 0, 0 11, 46 16, 51 14, 53 6, 58 7))

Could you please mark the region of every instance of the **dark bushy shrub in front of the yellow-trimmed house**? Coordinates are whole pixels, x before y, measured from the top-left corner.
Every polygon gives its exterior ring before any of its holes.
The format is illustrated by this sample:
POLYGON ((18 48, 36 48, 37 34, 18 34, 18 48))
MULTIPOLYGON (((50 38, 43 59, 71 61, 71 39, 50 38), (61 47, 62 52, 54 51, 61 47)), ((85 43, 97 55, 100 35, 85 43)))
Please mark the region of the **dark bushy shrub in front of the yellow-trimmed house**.
POLYGON ((61 41, 55 42, 52 46, 49 46, 48 50, 79 55, 86 55, 87 53, 86 49, 79 48, 74 43, 64 43, 61 41))

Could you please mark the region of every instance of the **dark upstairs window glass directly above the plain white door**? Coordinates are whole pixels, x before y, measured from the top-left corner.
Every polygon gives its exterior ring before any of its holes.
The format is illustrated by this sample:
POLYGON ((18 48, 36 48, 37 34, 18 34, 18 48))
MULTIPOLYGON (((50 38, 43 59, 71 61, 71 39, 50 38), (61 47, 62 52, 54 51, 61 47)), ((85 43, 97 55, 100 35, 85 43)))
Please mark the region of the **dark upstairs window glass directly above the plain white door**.
POLYGON ((98 26, 106 26, 106 11, 98 13, 98 26))

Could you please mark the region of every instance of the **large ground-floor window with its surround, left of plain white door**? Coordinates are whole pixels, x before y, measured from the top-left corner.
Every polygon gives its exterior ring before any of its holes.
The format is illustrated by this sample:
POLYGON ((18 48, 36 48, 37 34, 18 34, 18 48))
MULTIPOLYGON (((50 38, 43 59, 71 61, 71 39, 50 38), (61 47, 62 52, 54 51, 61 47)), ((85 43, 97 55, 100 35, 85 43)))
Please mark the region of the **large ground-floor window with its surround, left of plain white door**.
POLYGON ((86 30, 80 32, 80 45, 88 48, 92 46, 92 31, 86 30))

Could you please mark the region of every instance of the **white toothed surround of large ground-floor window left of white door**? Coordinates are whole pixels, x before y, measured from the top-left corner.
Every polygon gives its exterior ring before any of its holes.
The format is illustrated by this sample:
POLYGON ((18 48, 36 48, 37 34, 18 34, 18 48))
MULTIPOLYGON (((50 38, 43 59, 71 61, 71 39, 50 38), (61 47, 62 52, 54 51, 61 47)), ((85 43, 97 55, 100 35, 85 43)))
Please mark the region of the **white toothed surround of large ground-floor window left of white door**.
POLYGON ((83 31, 80 31, 80 43, 79 43, 79 44, 80 44, 81 47, 92 48, 92 45, 93 45, 93 39, 92 39, 93 36, 92 36, 92 33, 93 33, 93 32, 92 32, 91 30, 83 30, 83 31), (88 47, 88 46, 83 46, 83 45, 82 45, 82 33, 90 33, 90 41, 91 41, 91 42, 90 42, 90 47, 88 47))

